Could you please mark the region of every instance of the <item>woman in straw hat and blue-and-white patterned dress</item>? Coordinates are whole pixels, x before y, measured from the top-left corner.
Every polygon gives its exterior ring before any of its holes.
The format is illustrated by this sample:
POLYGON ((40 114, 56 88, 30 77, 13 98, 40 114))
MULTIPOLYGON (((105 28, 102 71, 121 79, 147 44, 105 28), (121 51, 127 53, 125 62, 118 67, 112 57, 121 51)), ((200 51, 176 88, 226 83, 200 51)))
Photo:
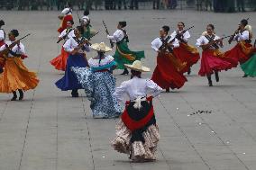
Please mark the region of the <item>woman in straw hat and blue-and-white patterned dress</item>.
POLYGON ((112 56, 105 55, 112 49, 105 46, 104 42, 91 45, 97 51, 95 58, 88 60, 87 67, 73 67, 78 76, 78 82, 85 88, 87 98, 94 118, 116 118, 122 112, 116 98, 113 96, 115 77, 112 70, 116 62, 112 56))

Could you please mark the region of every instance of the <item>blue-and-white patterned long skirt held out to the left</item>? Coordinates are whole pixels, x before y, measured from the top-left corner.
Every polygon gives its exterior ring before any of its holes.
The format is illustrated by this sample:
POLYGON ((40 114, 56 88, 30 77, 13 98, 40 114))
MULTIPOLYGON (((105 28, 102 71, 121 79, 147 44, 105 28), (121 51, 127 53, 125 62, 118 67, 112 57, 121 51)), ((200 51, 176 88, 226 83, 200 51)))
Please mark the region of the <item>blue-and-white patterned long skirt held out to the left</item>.
POLYGON ((114 97, 115 77, 109 72, 92 72, 87 67, 72 67, 85 89, 94 118, 116 118, 122 113, 114 97))

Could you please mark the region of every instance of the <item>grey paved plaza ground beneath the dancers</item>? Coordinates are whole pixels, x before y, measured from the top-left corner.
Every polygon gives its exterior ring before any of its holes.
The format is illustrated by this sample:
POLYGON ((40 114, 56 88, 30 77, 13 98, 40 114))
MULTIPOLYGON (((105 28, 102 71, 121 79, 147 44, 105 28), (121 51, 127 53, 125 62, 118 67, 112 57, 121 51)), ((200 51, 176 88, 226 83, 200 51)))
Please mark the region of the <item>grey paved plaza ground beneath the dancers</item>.
MULTIPOLYGON (((153 163, 132 163, 110 146, 118 120, 95 120, 85 97, 71 98, 54 85, 63 74, 50 66, 60 51, 56 44, 58 12, 6 12, 5 31, 18 29, 29 58, 27 67, 36 70, 40 85, 25 93, 23 102, 10 102, 11 94, 0 94, 0 170, 255 170, 256 169, 256 78, 242 78, 242 70, 220 73, 220 82, 207 86, 197 76, 199 63, 187 76, 187 84, 154 100, 160 127, 158 159, 153 163), (212 113, 198 113, 211 110, 212 113)), ((82 14, 82 12, 80 12, 82 14)), ((179 21, 191 30, 191 44, 215 24, 219 36, 229 35, 242 18, 256 34, 256 13, 197 13, 195 11, 92 12, 92 25, 99 34, 93 42, 108 40, 102 20, 113 32, 116 22, 127 21, 131 49, 144 49, 143 63, 156 66, 151 40, 160 26, 176 29, 179 21)), ((78 23, 77 15, 75 22, 78 23)), ((232 46, 226 45, 225 49, 232 46)), ((114 53, 111 52, 112 54, 114 53)), ((96 53, 91 52, 88 58, 96 53)), ((117 85, 129 76, 115 71, 117 85)), ((151 77, 152 72, 144 77, 151 77)), ((83 90, 79 94, 85 96, 83 90)))

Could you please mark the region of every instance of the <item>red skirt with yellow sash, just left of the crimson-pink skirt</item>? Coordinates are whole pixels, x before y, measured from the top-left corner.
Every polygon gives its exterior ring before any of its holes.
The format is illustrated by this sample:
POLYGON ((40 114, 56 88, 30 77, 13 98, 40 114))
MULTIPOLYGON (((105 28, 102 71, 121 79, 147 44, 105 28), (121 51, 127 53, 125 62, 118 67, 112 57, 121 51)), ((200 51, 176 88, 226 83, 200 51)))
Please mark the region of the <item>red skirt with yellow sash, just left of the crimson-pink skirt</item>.
POLYGON ((179 47, 174 48, 173 52, 180 61, 187 63, 187 66, 181 70, 182 73, 187 72, 188 68, 192 67, 200 59, 197 48, 190 46, 187 43, 179 43, 179 47))

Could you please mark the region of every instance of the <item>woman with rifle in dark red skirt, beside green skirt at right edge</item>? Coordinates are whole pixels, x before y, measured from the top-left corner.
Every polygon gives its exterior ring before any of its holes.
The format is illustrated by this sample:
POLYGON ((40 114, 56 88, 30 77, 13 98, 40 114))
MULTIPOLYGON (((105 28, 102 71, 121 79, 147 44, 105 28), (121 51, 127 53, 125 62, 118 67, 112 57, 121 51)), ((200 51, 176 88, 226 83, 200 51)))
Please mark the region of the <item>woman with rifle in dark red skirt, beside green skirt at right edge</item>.
MULTIPOLYGON (((237 41, 237 44, 233 47, 233 49, 226 51, 224 55, 227 58, 233 58, 236 63, 239 62, 242 64, 246 62, 251 56, 251 38, 251 25, 248 25, 248 19, 243 19, 240 22, 238 29, 234 31, 233 36, 228 40, 230 44, 232 41, 237 41)), ((246 75, 244 75, 244 77, 245 76, 246 75)))

